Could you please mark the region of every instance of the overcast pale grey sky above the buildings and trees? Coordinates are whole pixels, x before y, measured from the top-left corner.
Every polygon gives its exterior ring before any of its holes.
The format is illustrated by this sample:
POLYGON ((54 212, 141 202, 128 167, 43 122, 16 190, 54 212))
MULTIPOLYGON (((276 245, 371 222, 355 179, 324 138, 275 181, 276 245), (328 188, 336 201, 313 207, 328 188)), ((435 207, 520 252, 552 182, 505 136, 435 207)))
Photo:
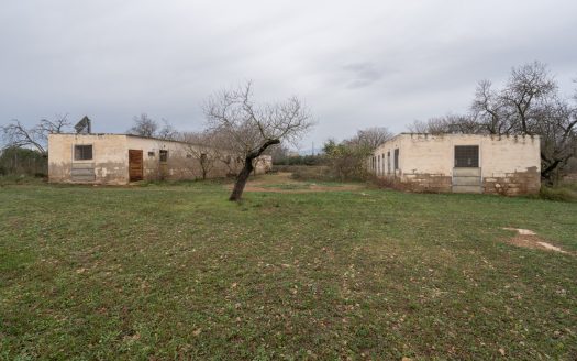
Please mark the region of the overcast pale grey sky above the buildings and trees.
POLYGON ((5 0, 0 124, 88 114, 124 132, 146 112, 200 130, 210 92, 252 79, 259 99, 306 100, 307 149, 465 111, 478 80, 535 59, 572 91, 577 1, 5 0))

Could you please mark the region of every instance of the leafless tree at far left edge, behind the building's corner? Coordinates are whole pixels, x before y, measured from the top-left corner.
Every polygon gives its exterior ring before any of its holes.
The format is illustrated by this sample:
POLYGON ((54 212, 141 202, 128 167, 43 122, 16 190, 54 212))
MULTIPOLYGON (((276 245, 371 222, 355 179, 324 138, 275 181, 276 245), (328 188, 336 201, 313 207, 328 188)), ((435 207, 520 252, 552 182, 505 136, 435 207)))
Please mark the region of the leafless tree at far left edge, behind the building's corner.
POLYGON ((42 155, 47 155, 48 134, 63 133, 70 128, 67 116, 58 116, 55 120, 42 119, 36 125, 26 128, 19 120, 12 120, 1 127, 2 139, 7 147, 36 149, 42 155))

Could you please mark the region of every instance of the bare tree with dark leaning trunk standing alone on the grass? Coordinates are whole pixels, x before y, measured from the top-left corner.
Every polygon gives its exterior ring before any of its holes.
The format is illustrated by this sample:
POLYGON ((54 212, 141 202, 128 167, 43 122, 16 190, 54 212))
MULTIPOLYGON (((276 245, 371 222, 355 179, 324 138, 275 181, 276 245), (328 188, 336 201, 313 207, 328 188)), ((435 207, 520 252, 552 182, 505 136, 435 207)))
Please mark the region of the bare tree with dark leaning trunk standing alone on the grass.
POLYGON ((243 154, 230 200, 240 200, 254 161, 270 145, 297 142, 312 125, 311 114, 297 97, 284 102, 256 105, 251 81, 237 89, 225 89, 209 97, 203 107, 211 131, 225 134, 230 147, 243 154))

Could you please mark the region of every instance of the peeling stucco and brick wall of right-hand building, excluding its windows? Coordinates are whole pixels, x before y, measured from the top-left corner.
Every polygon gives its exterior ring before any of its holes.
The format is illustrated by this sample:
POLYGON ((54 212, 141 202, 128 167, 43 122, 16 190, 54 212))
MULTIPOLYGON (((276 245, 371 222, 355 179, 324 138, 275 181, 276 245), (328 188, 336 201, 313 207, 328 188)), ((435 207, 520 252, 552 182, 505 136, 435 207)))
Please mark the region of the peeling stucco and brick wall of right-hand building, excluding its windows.
MULTIPOLYGON (((539 136, 491 136, 473 134, 399 134, 375 154, 399 149, 399 172, 379 176, 415 190, 451 192, 456 145, 478 145, 482 190, 508 195, 539 192, 539 136)), ((391 161, 392 162, 392 161, 391 161)))

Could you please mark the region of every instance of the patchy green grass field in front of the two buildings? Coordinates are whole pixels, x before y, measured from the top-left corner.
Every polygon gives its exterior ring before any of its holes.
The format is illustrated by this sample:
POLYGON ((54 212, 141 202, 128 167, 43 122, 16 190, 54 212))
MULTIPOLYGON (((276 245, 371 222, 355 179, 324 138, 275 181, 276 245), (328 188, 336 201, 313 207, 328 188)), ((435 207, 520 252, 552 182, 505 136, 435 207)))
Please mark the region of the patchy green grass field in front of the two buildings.
POLYGON ((577 358, 577 204, 323 186, 0 187, 0 359, 577 358))

